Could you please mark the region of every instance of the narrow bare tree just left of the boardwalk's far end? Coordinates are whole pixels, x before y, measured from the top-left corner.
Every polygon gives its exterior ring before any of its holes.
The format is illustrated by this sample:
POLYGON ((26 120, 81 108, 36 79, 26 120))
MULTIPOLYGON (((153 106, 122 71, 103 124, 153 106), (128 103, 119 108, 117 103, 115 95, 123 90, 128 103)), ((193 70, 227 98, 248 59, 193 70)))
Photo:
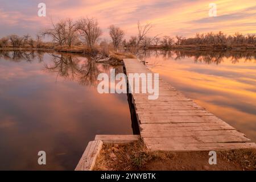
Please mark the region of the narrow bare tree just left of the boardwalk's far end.
POLYGON ((111 25, 109 27, 109 35, 112 38, 113 46, 116 49, 121 44, 125 32, 121 30, 121 28, 111 25))

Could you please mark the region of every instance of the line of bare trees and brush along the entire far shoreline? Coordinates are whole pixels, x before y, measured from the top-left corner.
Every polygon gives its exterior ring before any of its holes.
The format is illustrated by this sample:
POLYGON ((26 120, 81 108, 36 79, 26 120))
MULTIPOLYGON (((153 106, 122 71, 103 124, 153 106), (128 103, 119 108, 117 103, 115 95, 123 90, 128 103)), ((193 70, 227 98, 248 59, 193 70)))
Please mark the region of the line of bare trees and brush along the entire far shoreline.
POLYGON ((232 46, 232 45, 256 45, 256 36, 254 34, 243 35, 236 32, 234 35, 225 35, 223 32, 208 32, 207 34, 197 33, 193 38, 185 38, 176 35, 171 36, 147 36, 151 30, 151 23, 144 26, 137 23, 138 33, 131 36, 129 40, 124 39, 125 32, 114 25, 109 26, 109 36, 111 42, 102 40, 100 36, 102 30, 96 18, 81 18, 74 21, 70 18, 59 20, 57 23, 51 23, 51 27, 40 32, 33 39, 30 35, 18 36, 10 35, 0 39, 0 48, 13 47, 32 47, 32 48, 49 48, 60 46, 86 46, 91 49, 100 46, 111 46, 117 48, 147 48, 147 47, 172 47, 172 46, 232 46), (51 43, 43 42, 43 38, 48 36, 51 43))

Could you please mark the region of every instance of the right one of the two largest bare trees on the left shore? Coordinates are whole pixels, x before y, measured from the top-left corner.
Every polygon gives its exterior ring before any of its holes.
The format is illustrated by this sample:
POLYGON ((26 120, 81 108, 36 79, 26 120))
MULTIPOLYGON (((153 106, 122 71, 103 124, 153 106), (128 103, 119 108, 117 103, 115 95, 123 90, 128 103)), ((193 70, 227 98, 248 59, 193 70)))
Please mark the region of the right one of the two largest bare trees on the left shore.
POLYGON ((90 48, 94 46, 102 34, 98 26, 98 20, 94 18, 81 18, 77 22, 77 29, 79 30, 82 40, 84 40, 90 48))

